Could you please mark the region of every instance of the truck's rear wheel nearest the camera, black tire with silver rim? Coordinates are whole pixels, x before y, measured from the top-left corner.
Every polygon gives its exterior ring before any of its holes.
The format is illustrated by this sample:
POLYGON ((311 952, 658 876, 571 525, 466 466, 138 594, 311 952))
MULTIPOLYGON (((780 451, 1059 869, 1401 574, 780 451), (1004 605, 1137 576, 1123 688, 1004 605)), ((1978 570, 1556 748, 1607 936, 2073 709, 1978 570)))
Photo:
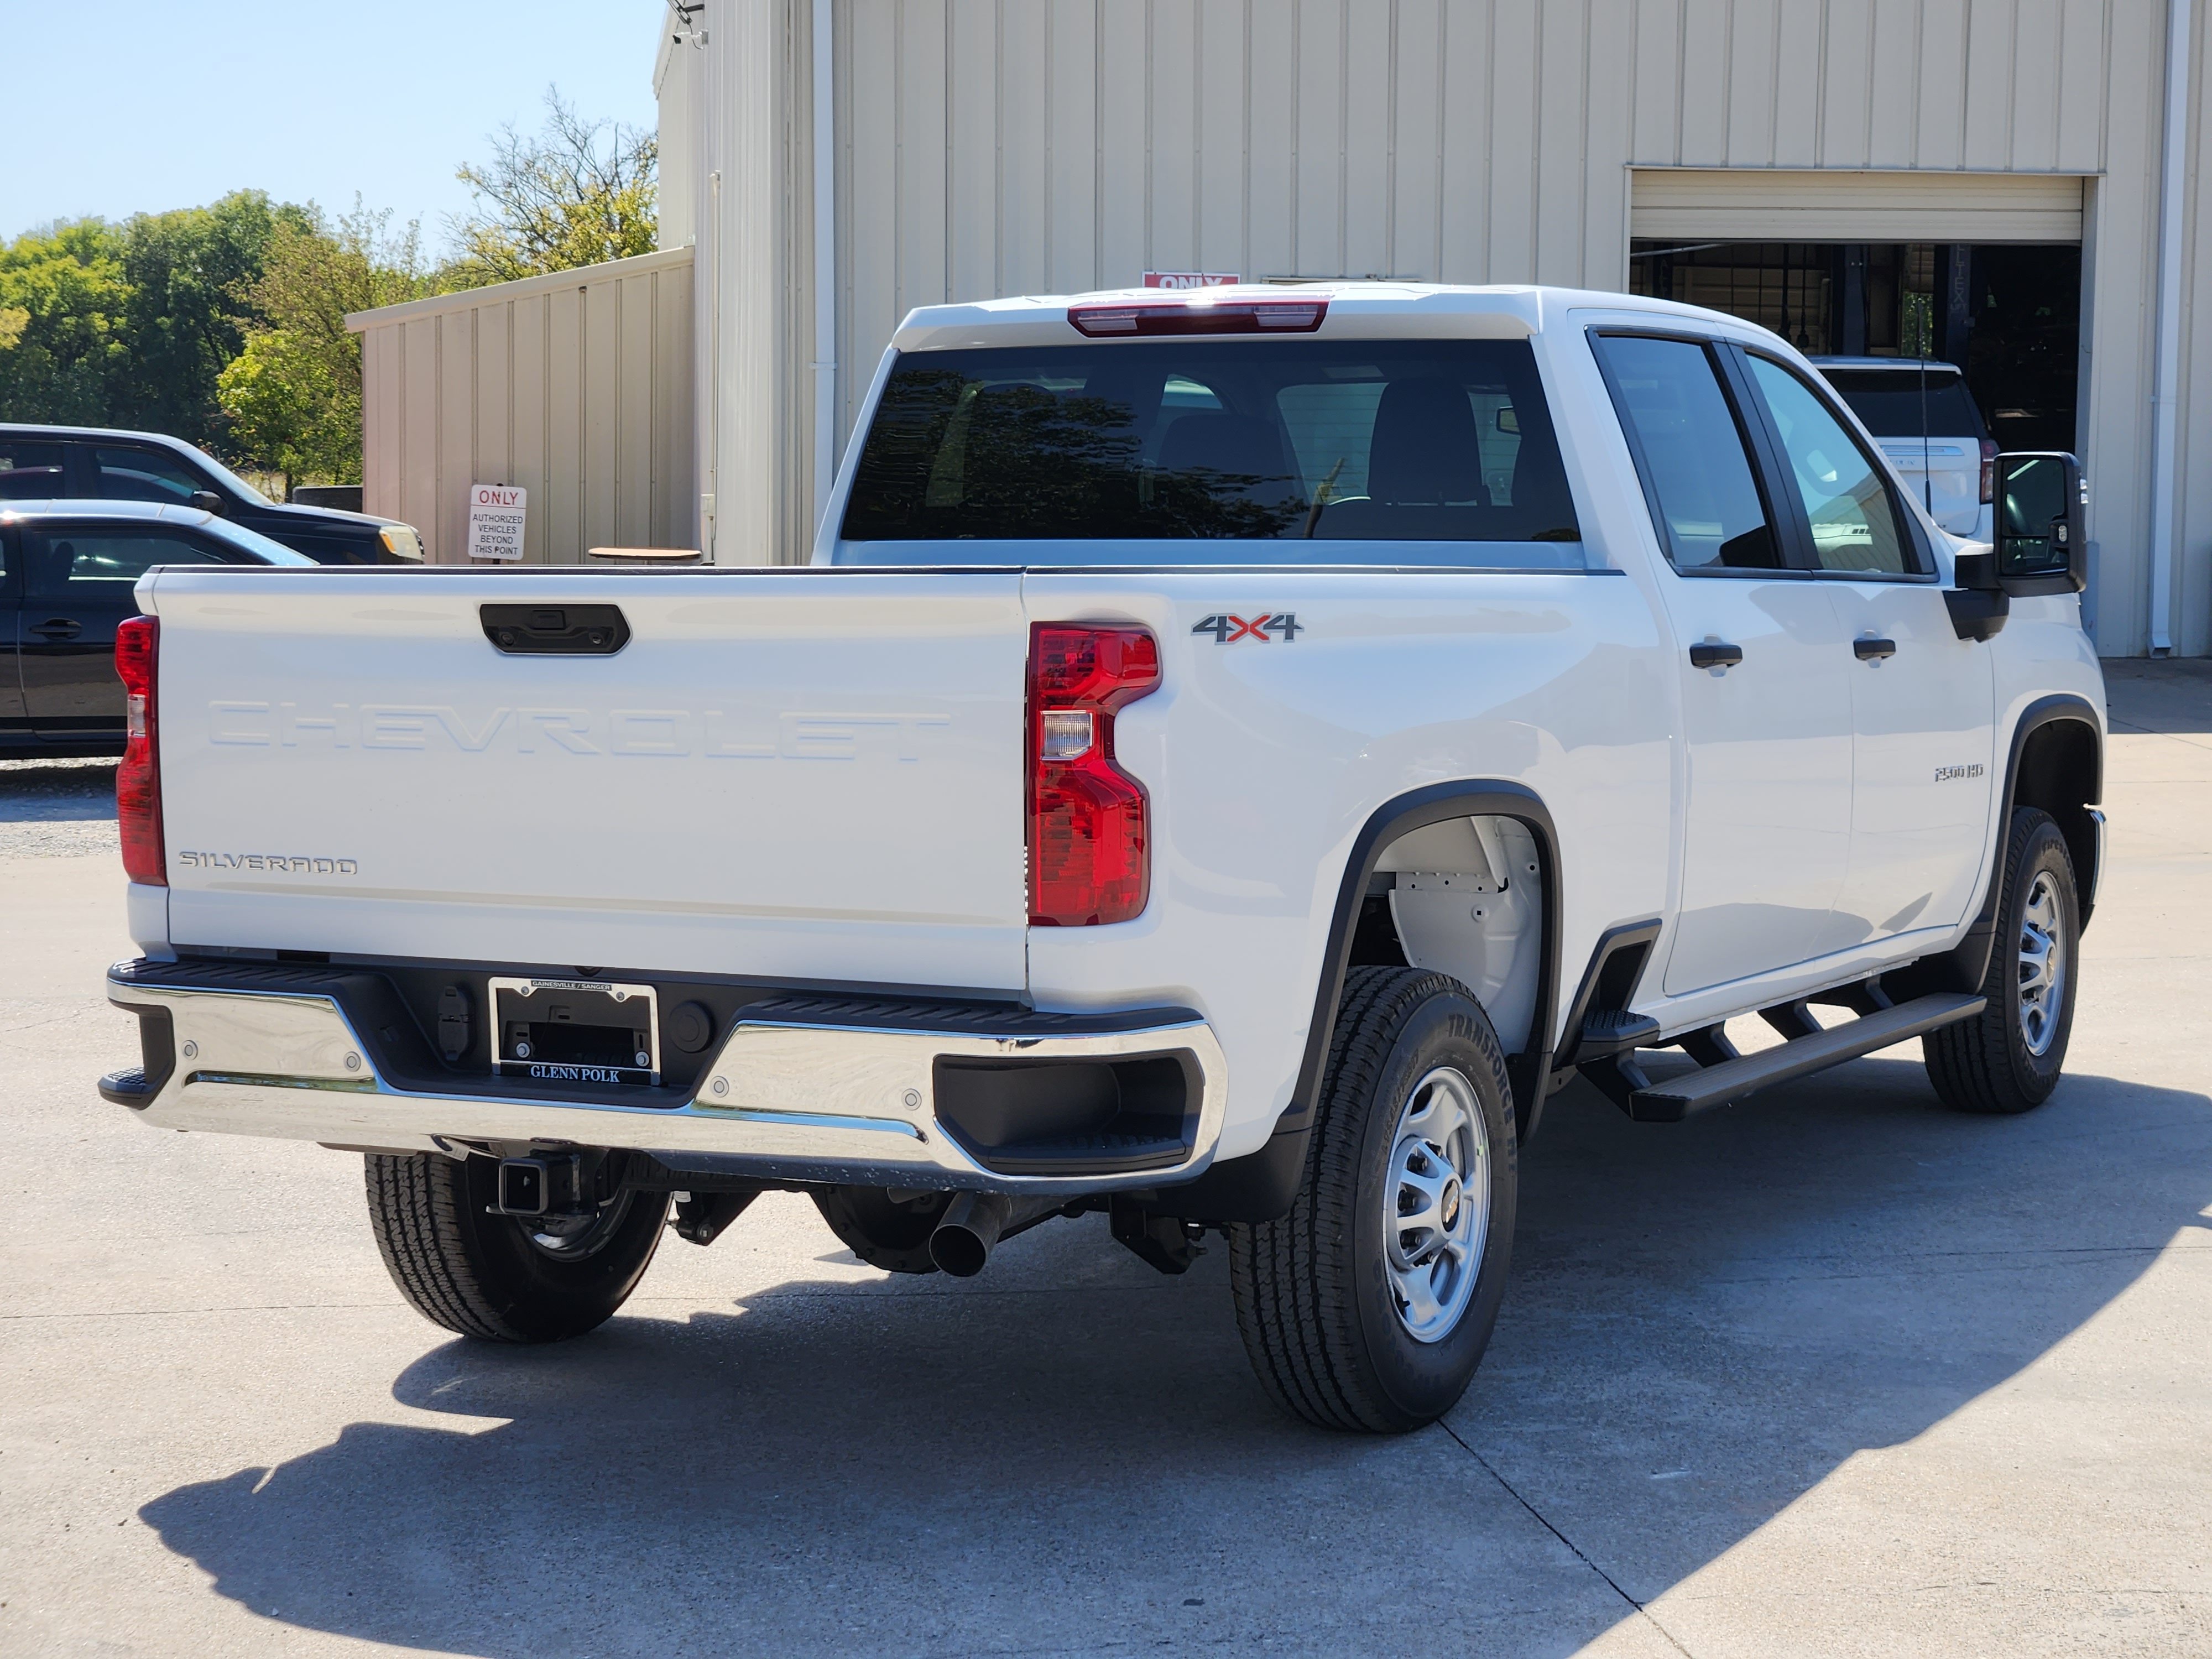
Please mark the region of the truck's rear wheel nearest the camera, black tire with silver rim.
POLYGON ((1267 1396, 1365 1433, 1449 1411, 1498 1323, 1515 1181, 1513 1088, 1482 1004, 1444 973, 1352 969, 1305 1183, 1281 1221, 1228 1230, 1267 1396))

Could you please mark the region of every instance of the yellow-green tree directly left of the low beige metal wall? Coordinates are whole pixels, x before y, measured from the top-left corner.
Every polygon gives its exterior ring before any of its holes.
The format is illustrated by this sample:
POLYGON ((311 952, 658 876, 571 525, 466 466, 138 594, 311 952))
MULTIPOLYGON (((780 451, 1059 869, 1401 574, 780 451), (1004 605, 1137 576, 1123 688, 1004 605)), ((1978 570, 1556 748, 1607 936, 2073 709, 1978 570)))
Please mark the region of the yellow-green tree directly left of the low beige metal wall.
POLYGON ((338 219, 314 204, 276 219, 261 274, 239 292, 259 321, 217 380, 246 460, 294 482, 361 482, 361 336, 345 314, 431 288, 418 228, 389 223, 358 199, 338 219))

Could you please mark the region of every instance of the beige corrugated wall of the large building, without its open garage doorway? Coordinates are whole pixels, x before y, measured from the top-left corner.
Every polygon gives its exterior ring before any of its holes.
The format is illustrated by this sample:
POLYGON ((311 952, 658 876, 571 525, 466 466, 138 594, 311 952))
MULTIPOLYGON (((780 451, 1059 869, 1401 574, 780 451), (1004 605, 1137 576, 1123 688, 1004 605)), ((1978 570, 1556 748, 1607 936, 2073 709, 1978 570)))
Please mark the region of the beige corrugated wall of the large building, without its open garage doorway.
MULTIPOLYGON (((2031 215, 2079 204, 2093 608, 2106 653, 2146 648, 2168 0, 710 0, 699 489, 726 562, 812 542, 821 9, 841 447, 914 305, 1148 268, 1624 288, 1632 197, 1663 170, 1913 175, 1949 206, 1982 175, 2031 215)), ((2199 18, 2197 161, 2208 33, 2199 18)), ((2190 179, 2185 294, 2212 268, 2212 170, 2190 179)), ((2212 316, 2194 307, 2183 363, 2172 626, 2203 655, 2212 316)))

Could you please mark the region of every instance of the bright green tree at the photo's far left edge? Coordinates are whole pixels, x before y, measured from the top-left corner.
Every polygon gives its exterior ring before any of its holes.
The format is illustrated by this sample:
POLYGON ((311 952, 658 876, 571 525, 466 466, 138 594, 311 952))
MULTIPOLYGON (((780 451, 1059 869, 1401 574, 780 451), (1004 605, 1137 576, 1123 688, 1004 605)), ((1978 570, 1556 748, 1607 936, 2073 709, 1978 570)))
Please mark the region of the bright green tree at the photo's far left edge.
POLYGON ((128 361, 124 239, 104 219, 0 248, 0 420, 100 425, 128 361))

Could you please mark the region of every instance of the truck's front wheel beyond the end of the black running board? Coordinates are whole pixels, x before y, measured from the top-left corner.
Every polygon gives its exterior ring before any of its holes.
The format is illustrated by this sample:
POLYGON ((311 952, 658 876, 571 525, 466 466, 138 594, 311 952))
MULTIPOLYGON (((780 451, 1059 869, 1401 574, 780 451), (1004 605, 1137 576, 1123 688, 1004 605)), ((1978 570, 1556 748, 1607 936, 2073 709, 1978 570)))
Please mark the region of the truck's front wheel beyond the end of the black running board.
POLYGON ((1989 1006, 1920 1040, 1929 1082, 1960 1113, 2026 1113, 2051 1099, 2073 1037, 2081 905, 2048 812, 2017 807, 1982 995, 1989 1006))

